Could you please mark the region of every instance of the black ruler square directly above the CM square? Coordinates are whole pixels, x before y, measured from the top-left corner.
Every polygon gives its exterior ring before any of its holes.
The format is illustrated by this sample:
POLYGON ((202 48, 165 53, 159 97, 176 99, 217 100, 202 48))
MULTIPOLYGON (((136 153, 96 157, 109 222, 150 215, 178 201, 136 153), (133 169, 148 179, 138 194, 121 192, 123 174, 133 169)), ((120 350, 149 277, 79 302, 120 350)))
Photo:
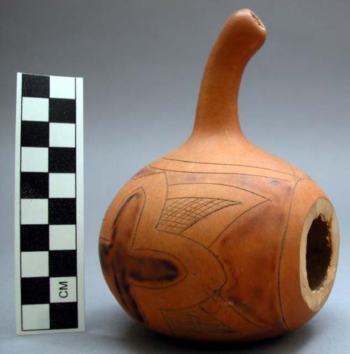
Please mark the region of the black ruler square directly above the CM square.
POLYGON ((76 276, 76 250, 50 250, 50 276, 76 276))

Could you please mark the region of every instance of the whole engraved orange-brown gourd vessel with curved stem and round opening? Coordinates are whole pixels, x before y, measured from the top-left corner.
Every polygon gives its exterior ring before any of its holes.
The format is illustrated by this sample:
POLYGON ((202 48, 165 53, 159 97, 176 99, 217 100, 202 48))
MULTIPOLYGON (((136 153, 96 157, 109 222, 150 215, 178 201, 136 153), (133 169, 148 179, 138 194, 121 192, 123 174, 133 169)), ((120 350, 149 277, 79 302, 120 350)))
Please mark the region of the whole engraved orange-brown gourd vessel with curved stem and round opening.
POLYGON ((209 55, 190 138, 135 174, 106 212, 104 277, 151 330, 272 337, 307 322, 332 288, 339 232, 327 195, 239 127, 239 83, 265 36, 251 10, 230 16, 209 55))

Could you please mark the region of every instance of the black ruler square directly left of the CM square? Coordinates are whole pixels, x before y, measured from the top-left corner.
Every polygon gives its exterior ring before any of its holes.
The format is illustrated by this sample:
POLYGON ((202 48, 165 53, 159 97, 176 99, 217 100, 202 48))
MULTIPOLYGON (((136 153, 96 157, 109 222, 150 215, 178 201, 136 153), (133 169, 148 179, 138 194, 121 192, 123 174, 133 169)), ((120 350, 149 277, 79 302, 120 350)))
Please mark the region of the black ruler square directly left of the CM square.
POLYGON ((50 278, 21 278, 22 305, 48 304, 50 302, 50 278))

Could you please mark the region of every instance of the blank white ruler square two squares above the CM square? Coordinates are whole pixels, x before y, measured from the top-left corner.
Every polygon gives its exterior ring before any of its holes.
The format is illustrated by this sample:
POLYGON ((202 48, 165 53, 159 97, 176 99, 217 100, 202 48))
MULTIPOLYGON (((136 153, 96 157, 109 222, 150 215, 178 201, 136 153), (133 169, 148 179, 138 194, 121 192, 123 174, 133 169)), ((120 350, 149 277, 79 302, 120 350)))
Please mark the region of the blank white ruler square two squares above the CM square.
POLYGON ((50 250, 75 250, 76 225, 50 225, 50 250))

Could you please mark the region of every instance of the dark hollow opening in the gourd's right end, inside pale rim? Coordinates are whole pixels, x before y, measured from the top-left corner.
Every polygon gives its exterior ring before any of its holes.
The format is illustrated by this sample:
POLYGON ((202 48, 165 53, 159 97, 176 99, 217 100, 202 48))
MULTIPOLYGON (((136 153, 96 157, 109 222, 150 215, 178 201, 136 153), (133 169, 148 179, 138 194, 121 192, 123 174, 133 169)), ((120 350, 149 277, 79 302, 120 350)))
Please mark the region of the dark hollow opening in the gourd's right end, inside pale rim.
POLYGON ((314 219, 307 234, 307 281, 311 290, 322 287, 330 267, 332 248, 328 223, 321 215, 314 219))

